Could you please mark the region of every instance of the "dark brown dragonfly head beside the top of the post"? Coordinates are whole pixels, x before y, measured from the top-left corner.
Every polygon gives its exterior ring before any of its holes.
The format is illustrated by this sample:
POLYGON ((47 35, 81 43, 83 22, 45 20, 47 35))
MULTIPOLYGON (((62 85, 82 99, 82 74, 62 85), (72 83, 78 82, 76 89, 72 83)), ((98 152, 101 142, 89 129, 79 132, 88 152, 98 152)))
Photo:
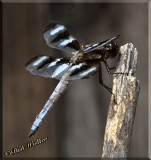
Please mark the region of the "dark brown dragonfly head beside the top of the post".
POLYGON ((108 58, 114 58, 119 51, 119 46, 116 42, 111 42, 106 45, 106 50, 108 58))

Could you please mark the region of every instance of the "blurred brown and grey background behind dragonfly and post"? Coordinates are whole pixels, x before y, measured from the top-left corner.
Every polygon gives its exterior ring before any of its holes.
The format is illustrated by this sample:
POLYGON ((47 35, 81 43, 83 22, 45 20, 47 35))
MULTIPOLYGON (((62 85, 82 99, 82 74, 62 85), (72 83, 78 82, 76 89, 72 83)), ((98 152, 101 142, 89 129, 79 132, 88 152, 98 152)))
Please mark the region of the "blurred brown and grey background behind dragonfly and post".
MULTIPOLYGON (((58 80, 31 75, 25 63, 37 55, 68 56, 45 44, 43 30, 52 21, 64 24, 83 44, 120 34, 119 45, 130 42, 137 48, 141 90, 129 157, 147 157, 147 3, 3 3, 3 152, 48 137, 13 157, 100 157, 102 153, 111 95, 99 85, 98 75, 72 82, 38 132, 27 138, 58 80)), ((110 66, 116 60, 109 61, 110 66)), ((105 68, 103 79, 112 86, 105 68)))

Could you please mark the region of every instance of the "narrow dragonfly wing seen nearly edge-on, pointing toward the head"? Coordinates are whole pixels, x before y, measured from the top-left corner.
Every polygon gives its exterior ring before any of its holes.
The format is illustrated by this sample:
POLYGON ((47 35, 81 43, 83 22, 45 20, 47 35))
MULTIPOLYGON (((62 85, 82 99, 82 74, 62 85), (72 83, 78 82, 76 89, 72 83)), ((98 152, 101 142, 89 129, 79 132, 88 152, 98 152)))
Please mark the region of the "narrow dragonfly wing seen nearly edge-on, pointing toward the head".
POLYGON ((100 42, 100 43, 94 43, 94 44, 91 44, 91 45, 87 45, 85 49, 83 49, 82 51, 80 51, 80 53, 88 53, 88 52, 91 52, 93 50, 96 50, 98 48, 102 48, 103 46, 111 43, 112 41, 116 40, 117 38, 119 37, 119 35, 113 37, 113 38, 110 38, 110 39, 107 39, 103 42, 100 42))

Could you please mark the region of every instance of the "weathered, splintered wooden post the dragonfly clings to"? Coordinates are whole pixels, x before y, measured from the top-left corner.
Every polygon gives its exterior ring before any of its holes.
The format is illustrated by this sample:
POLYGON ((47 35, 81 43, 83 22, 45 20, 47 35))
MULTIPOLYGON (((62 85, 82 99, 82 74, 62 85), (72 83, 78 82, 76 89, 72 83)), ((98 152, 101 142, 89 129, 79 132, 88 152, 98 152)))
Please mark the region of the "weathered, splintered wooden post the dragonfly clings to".
POLYGON ((102 158, 126 158, 136 112, 139 81, 136 79, 138 52, 133 44, 120 47, 120 58, 114 75, 102 158))

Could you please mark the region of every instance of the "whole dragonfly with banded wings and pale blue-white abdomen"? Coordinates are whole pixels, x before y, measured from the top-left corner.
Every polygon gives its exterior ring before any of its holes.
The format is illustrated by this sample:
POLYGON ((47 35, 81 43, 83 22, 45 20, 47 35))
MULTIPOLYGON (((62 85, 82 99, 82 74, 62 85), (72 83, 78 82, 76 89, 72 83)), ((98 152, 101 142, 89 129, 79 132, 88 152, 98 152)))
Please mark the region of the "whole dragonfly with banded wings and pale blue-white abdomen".
POLYGON ((112 89, 103 83, 101 64, 104 63, 107 72, 111 74, 111 69, 114 68, 108 66, 107 59, 114 58, 118 54, 119 46, 115 40, 119 35, 103 42, 84 46, 69 33, 64 25, 50 23, 46 26, 43 36, 49 47, 65 51, 72 57, 55 58, 40 55, 26 63, 26 69, 31 74, 60 80, 41 112, 37 115, 28 137, 36 133, 48 111, 51 110, 71 81, 87 79, 98 72, 100 84, 113 94, 112 89))

